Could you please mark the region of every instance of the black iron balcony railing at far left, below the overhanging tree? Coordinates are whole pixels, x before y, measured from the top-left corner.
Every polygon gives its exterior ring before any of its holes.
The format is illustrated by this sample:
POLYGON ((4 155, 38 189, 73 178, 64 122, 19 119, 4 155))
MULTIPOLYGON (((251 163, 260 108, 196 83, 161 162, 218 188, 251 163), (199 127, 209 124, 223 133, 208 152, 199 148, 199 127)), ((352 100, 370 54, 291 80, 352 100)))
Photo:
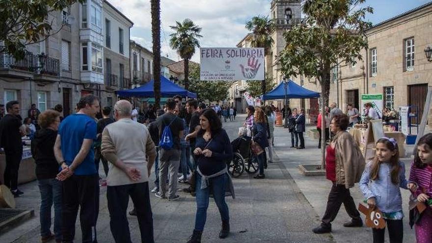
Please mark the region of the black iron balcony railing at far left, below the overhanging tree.
POLYGON ((0 53, 0 76, 2 77, 58 81, 59 74, 60 61, 43 53, 26 52, 21 60, 16 59, 12 54, 0 53))

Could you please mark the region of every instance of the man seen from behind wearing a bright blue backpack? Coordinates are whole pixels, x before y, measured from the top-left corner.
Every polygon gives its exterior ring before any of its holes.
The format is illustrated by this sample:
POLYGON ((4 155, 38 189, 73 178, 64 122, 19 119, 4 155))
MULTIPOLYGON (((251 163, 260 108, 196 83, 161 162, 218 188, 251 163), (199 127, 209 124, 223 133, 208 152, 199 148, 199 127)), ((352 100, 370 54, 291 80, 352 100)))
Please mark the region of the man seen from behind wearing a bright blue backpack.
POLYGON ((166 101, 166 112, 156 119, 159 128, 159 191, 155 194, 159 198, 168 198, 176 201, 177 172, 180 165, 180 137, 185 130, 182 119, 174 114, 176 102, 172 99, 166 101), (168 195, 166 195, 166 176, 169 172, 168 195))

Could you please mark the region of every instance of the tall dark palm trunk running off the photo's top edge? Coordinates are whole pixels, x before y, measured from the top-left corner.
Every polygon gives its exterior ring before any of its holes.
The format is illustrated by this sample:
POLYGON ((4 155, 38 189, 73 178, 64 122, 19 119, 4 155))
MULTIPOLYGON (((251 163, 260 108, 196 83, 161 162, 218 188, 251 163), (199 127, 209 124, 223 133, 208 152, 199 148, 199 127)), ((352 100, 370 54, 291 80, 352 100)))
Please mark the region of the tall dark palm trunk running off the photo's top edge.
POLYGON ((161 1, 151 0, 152 39, 153 39, 153 90, 155 107, 161 101, 161 1))

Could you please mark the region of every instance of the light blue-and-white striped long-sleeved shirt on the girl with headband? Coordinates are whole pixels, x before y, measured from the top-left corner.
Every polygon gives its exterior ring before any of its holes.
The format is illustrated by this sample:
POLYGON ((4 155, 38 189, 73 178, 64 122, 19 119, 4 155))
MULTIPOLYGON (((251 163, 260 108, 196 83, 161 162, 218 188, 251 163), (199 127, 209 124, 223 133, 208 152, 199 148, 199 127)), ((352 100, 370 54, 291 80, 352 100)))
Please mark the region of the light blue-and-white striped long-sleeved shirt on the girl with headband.
POLYGON ((370 161, 361 176, 358 184, 361 192, 366 199, 375 197, 377 208, 384 213, 393 213, 402 210, 402 195, 399 187, 407 189, 408 181, 405 179, 405 164, 399 162, 401 170, 399 171, 399 184, 395 185, 391 181, 392 166, 389 163, 380 163, 378 170, 378 179, 371 180, 373 162, 370 161), (369 186, 369 182, 371 185, 369 186))

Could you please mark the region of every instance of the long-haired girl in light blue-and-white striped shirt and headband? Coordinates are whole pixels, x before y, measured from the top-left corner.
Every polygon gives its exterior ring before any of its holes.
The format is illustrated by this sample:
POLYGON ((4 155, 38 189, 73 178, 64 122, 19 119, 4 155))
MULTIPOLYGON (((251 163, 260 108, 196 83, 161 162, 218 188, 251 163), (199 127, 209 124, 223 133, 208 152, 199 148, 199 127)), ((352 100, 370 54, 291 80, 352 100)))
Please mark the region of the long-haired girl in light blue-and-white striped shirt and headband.
MULTIPOLYGON (((359 187, 367 199, 369 208, 382 212, 388 228, 390 243, 402 243, 404 237, 402 196, 400 188, 407 189, 405 164, 399 161, 399 149, 395 139, 378 139, 373 161, 366 164, 359 187), (369 186, 369 182, 371 182, 369 186)), ((372 229, 374 243, 384 243, 384 229, 372 229)))

